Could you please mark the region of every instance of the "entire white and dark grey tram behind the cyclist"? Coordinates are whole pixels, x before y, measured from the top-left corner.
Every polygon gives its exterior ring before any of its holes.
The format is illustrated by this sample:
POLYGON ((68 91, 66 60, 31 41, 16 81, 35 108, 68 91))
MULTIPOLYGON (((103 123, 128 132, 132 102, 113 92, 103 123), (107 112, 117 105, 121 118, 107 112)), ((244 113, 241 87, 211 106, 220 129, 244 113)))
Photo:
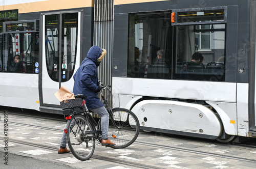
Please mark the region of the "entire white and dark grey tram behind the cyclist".
POLYGON ((99 45, 108 51, 99 79, 112 85, 113 106, 132 110, 144 131, 224 143, 255 137, 255 7, 252 0, 4 1, 0 105, 60 114, 54 93, 72 91, 74 72, 99 45))

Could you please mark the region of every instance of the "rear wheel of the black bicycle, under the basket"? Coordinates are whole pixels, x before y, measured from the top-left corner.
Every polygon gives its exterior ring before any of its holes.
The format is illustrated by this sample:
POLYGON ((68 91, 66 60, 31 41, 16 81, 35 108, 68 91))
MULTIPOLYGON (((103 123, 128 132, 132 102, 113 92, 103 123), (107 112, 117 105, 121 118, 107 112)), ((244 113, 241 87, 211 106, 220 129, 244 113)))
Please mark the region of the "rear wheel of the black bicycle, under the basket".
POLYGON ((84 161, 92 157, 95 150, 95 134, 86 134, 93 131, 93 125, 82 115, 74 115, 68 122, 68 145, 72 154, 84 161))

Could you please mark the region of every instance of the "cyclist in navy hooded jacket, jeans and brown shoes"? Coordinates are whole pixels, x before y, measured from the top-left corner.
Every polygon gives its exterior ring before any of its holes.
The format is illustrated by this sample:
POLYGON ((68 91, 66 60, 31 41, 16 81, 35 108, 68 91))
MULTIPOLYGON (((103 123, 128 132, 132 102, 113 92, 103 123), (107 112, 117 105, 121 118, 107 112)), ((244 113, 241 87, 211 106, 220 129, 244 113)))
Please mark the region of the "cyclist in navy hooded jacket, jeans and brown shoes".
MULTIPOLYGON (((99 46, 92 46, 89 49, 87 57, 82 61, 80 67, 74 74, 73 93, 75 95, 83 94, 86 96, 87 108, 100 116, 102 132, 101 145, 114 146, 115 144, 108 139, 109 114, 98 97, 101 87, 98 86, 97 67, 100 65, 105 54, 106 50, 101 49, 99 46)), ((66 146, 66 133, 63 132, 58 154, 68 153, 70 150, 66 146)))

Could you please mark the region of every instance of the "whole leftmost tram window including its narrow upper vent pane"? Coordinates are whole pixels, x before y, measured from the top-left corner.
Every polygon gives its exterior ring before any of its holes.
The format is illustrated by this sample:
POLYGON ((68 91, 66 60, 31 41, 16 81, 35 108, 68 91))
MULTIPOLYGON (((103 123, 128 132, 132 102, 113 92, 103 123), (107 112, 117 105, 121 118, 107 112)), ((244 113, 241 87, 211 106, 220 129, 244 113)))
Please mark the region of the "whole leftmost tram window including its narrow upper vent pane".
POLYGON ((3 34, 3 71, 38 73, 39 20, 4 22, 3 34), (19 63, 15 62, 15 57, 19 58, 19 63))

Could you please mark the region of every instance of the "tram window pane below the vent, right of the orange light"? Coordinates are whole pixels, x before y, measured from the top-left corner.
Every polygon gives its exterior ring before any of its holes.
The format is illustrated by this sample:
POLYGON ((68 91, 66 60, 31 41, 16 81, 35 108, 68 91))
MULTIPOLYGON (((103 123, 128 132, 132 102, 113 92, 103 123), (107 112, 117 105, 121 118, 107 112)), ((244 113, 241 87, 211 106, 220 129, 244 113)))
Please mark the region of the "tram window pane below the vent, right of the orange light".
POLYGON ((174 78, 225 80, 225 24, 178 25, 176 35, 174 78))

